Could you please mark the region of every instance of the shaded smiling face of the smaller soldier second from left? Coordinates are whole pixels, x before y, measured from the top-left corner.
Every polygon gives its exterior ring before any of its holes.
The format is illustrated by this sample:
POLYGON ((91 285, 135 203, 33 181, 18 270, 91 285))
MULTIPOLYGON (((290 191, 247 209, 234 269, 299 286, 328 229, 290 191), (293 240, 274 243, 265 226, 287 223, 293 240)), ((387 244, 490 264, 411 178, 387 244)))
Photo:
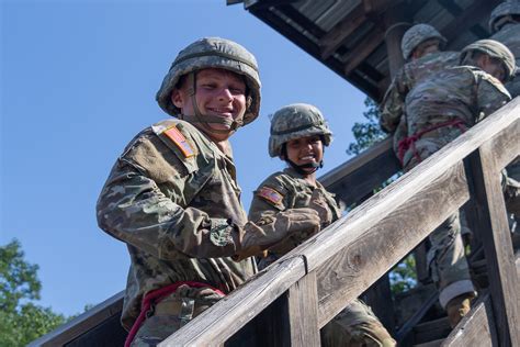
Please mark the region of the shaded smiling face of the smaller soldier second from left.
MULTIPOLYGON (((287 142, 287 158, 296 165, 318 164, 324 159, 324 145, 318 135, 299 137, 287 142)), ((313 172, 314 168, 307 168, 313 172)))

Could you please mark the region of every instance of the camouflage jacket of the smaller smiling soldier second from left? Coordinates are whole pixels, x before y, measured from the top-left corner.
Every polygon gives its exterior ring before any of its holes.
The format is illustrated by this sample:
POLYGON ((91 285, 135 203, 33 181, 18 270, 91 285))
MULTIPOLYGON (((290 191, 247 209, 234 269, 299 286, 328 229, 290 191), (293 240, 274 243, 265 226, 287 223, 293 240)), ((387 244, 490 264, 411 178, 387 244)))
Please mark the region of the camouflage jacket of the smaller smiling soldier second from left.
MULTIPOLYGON (((303 176, 293 168, 269 176, 255 191, 251 208, 249 209, 249 220, 257 223, 265 217, 273 216, 280 211, 290 209, 308 208, 313 192, 319 189, 320 198, 331 215, 331 222, 337 221, 342 213, 342 209, 335 200, 335 195, 328 192, 321 183, 316 181, 316 187, 306 181, 303 176)), ((330 224, 330 223, 328 223, 330 224)), ((321 225, 323 227, 327 225, 321 225)), ((282 257, 285 253, 303 243, 308 236, 307 231, 290 236, 269 249, 267 259, 261 259, 259 268, 263 269, 271 262, 282 257)))

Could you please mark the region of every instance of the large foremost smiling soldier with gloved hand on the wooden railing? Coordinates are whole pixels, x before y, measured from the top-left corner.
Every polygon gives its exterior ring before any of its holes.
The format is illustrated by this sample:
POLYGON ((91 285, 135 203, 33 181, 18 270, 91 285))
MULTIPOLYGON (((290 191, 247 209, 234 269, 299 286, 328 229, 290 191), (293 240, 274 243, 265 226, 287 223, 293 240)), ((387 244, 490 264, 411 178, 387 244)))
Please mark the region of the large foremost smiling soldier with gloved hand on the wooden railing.
POLYGON ((192 43, 157 101, 176 119, 127 145, 97 206, 100 227, 131 256, 125 346, 156 346, 251 277, 248 257, 320 223, 312 209, 247 221, 228 142, 260 107, 257 61, 246 48, 218 37, 192 43))

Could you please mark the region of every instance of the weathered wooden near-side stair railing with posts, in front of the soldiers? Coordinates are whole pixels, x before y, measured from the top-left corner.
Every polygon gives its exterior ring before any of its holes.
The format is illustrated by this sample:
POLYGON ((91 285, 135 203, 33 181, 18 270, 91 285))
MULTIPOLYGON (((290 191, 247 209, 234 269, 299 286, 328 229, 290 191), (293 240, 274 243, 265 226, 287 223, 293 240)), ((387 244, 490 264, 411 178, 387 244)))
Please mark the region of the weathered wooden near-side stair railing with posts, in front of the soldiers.
POLYGON ((499 177, 520 154, 519 117, 517 98, 159 346, 219 345, 255 323, 257 342, 318 346, 319 328, 468 199, 490 283, 490 303, 479 310, 493 317, 488 329, 500 346, 520 346, 520 287, 499 177))

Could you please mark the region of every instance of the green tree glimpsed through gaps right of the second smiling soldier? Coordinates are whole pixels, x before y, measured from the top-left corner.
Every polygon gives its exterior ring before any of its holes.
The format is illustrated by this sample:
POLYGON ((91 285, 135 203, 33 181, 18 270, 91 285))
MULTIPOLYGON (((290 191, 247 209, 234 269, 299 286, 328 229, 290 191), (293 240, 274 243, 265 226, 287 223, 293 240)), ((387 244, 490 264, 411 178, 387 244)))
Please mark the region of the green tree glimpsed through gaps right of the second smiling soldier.
MULTIPOLYGON (((378 141, 384 139, 388 136, 385 132, 381 130, 380 126, 380 110, 374 100, 366 98, 364 100, 366 111, 363 112, 363 116, 366 119, 366 122, 357 122, 352 126, 352 133, 354 135, 355 142, 351 143, 347 148, 347 154, 349 155, 359 155, 361 152, 368 149, 373 144, 378 141)), ((396 177, 398 177, 398 174, 396 177)), ((389 184, 395 178, 389 179, 384 182, 381 188, 389 184)), ((417 275, 415 271, 416 260, 412 255, 406 257, 403 261, 397 264, 389 273, 391 288, 393 293, 400 293, 414 288, 417 283, 417 275)))

